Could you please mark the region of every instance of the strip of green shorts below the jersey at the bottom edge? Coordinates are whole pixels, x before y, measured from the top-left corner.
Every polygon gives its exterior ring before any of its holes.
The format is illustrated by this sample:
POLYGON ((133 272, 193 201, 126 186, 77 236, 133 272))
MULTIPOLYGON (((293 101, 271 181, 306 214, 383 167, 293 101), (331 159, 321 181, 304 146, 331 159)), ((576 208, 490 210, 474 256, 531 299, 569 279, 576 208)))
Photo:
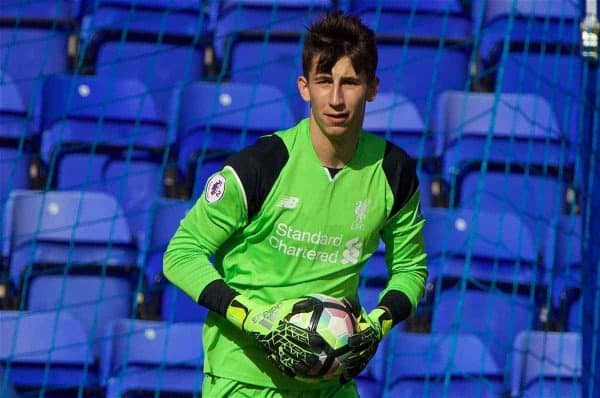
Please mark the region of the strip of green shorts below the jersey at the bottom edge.
POLYGON ((358 391, 354 382, 336 384, 321 390, 289 391, 206 375, 202 384, 202 396, 206 398, 358 398, 358 391))

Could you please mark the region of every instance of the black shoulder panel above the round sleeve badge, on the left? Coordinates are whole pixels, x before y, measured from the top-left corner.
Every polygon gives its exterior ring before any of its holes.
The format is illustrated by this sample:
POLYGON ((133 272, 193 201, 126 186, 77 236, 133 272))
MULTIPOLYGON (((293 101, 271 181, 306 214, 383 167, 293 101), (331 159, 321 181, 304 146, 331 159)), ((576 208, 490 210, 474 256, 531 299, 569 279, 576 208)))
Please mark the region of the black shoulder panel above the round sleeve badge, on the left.
POLYGON ((225 161, 225 165, 231 166, 242 181, 248 203, 248 220, 260 211, 289 157, 283 140, 276 135, 268 135, 225 161))

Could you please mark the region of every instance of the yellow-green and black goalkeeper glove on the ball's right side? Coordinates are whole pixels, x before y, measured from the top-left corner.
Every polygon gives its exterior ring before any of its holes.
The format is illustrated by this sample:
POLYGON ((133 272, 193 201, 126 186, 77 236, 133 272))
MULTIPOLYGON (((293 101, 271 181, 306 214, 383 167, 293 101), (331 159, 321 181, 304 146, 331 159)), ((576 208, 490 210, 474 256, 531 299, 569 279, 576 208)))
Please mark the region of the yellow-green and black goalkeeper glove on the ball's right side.
POLYGON ((350 354, 344 359, 341 382, 347 383, 360 374, 377 352, 379 342, 392 328, 392 316, 384 307, 376 307, 367 314, 358 302, 346 299, 356 317, 358 332, 350 336, 350 354))

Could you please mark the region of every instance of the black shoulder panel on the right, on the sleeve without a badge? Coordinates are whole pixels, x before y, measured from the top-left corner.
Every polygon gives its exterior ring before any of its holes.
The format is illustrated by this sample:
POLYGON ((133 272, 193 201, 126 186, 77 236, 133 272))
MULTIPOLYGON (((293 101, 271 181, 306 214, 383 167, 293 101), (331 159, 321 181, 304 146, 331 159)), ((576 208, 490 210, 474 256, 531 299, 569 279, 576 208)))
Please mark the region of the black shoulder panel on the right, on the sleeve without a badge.
POLYGON ((389 217, 393 217, 419 188, 415 161, 401 148, 389 141, 385 143, 383 171, 394 193, 394 205, 389 217))

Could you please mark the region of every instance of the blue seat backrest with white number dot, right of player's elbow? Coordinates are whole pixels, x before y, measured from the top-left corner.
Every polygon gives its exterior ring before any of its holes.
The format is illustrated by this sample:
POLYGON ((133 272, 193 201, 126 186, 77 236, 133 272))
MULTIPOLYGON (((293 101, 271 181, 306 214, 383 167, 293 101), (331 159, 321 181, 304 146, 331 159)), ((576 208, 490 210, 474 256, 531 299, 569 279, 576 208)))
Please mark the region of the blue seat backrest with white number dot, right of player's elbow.
POLYGON ((444 277, 510 285, 544 281, 534 237, 517 214, 469 208, 429 208, 424 214, 430 281, 444 277))

